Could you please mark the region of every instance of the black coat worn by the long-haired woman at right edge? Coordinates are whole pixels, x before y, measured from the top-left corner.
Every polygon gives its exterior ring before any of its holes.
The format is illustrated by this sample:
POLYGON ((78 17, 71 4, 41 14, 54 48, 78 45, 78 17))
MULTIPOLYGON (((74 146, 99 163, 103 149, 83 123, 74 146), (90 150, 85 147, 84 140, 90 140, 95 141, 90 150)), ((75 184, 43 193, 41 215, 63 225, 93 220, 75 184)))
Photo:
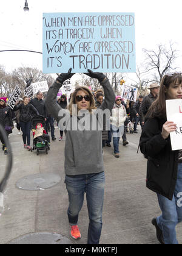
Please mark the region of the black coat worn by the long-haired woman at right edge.
POLYGON ((178 172, 178 151, 172 151, 170 136, 161 135, 165 119, 149 118, 145 121, 140 150, 147 157, 147 188, 172 200, 178 172))

